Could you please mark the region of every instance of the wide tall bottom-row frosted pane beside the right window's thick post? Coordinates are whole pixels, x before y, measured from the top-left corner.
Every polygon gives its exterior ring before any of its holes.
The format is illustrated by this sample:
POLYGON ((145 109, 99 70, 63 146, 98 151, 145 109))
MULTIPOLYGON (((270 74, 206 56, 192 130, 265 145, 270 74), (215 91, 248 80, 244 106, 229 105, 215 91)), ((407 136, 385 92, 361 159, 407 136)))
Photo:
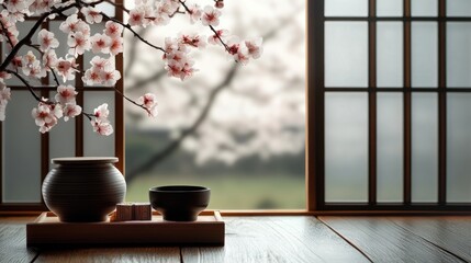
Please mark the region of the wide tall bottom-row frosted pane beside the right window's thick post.
POLYGON ((325 94, 325 201, 368 199, 368 94, 325 94))

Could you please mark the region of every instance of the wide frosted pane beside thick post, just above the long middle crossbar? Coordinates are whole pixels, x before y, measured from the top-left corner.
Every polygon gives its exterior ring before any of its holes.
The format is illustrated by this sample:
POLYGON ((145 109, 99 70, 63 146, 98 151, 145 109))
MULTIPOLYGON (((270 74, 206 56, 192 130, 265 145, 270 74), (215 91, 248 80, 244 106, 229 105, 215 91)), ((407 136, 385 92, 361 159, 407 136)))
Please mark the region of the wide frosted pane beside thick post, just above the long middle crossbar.
POLYGON ((325 85, 368 85, 368 23, 325 23, 325 85))

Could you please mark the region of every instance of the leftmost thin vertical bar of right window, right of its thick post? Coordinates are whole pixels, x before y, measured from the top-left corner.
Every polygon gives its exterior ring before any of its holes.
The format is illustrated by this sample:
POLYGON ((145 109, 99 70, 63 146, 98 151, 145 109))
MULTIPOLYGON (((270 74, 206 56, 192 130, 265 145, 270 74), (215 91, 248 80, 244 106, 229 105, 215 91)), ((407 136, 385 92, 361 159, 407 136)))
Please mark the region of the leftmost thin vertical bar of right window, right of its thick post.
MULTIPOLYGON (((377 16, 375 0, 369 1, 369 16, 377 16)), ((368 203, 377 204, 377 22, 368 22, 368 203)))

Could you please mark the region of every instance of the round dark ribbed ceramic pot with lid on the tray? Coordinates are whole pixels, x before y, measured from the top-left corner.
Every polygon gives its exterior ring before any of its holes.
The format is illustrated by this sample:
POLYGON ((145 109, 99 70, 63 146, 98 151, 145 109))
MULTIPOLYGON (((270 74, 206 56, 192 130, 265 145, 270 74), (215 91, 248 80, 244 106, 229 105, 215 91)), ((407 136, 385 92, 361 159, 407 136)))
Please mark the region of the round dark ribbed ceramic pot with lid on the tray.
POLYGON ((46 206, 60 221, 105 221, 124 201, 126 182, 113 165, 117 158, 56 158, 43 182, 46 206))

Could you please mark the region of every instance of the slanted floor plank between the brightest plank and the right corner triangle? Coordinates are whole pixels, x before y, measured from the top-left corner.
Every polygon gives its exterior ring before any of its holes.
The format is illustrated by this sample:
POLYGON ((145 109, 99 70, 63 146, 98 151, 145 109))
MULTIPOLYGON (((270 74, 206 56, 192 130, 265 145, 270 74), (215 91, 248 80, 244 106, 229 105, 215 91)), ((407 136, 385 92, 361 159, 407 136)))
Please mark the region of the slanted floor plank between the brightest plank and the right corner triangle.
POLYGON ((384 217, 321 217, 319 220, 373 262, 462 262, 384 217))

